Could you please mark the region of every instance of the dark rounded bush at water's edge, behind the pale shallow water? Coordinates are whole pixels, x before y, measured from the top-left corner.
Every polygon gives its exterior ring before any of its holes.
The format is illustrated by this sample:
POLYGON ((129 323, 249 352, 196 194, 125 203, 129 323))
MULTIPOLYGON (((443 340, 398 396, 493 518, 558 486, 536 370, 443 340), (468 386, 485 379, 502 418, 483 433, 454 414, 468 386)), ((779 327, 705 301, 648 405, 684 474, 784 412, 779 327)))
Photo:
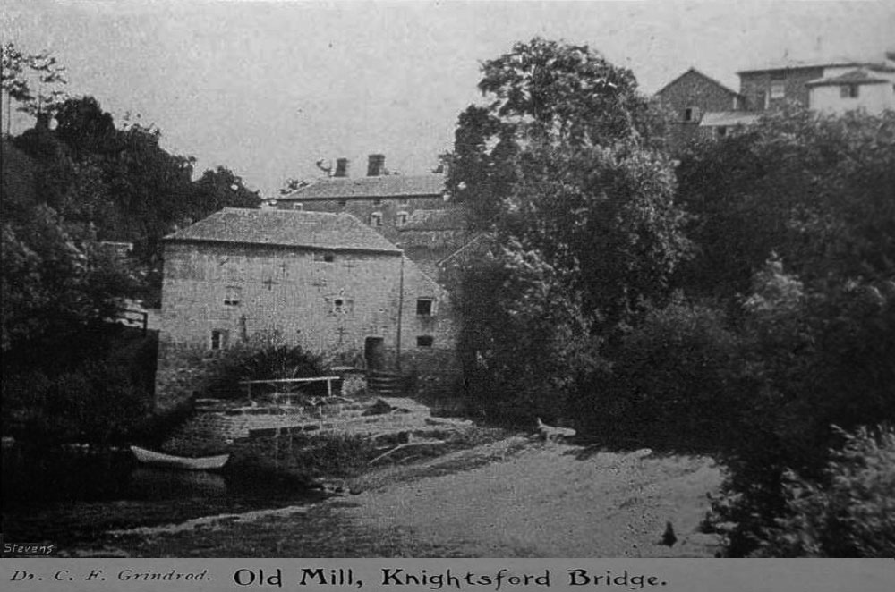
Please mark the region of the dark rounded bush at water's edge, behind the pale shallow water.
POLYGON ((607 351, 611 369, 579 393, 575 416, 604 436, 723 444, 751 385, 742 354, 720 311, 678 295, 607 351))

